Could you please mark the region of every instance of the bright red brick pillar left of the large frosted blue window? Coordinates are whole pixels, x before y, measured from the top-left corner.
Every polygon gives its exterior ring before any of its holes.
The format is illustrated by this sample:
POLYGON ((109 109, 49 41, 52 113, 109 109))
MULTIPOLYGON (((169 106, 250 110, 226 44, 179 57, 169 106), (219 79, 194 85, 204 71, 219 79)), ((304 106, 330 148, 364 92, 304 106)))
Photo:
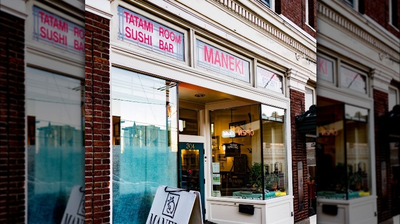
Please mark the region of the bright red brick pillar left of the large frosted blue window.
POLYGON ((85 12, 86 223, 110 222, 110 20, 85 12))

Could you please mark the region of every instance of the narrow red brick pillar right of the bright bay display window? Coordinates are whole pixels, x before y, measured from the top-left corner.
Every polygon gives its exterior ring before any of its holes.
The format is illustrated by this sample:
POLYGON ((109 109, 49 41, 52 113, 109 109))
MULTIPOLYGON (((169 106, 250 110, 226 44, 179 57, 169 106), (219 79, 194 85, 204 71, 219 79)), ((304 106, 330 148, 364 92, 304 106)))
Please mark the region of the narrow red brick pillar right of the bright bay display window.
POLYGON ((307 191, 307 151, 306 139, 296 131, 294 118, 305 111, 305 94, 294 89, 290 89, 290 122, 291 122, 291 142, 292 142, 292 173, 293 173, 293 208, 294 221, 300 221, 308 217, 308 191, 307 191), (304 208, 298 210, 298 181, 297 163, 303 162, 303 190, 304 208))

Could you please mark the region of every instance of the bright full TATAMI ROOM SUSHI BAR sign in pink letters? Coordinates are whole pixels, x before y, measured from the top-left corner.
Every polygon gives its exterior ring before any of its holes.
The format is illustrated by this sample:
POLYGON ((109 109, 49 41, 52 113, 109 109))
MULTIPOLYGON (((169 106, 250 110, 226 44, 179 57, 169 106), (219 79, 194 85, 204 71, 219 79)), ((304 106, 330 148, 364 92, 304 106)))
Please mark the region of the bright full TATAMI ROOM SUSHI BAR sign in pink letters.
POLYGON ((118 39, 185 60, 184 34, 118 6, 118 39))

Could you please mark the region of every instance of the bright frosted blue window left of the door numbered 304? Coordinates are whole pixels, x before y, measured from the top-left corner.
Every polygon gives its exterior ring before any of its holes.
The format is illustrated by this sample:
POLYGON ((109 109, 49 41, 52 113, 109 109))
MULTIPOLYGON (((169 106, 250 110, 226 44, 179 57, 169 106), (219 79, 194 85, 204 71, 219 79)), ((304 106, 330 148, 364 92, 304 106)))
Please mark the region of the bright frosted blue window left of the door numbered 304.
POLYGON ((111 87, 113 223, 145 223, 157 187, 177 187, 177 86, 112 68, 111 87))

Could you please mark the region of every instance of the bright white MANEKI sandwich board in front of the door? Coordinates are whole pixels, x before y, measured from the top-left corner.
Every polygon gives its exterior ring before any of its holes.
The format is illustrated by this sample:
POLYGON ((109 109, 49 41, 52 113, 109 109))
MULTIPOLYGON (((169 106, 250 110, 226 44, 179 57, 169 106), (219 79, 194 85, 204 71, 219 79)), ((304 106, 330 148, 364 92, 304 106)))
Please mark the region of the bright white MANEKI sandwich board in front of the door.
POLYGON ((203 223, 200 192, 159 186, 146 224, 203 223))

